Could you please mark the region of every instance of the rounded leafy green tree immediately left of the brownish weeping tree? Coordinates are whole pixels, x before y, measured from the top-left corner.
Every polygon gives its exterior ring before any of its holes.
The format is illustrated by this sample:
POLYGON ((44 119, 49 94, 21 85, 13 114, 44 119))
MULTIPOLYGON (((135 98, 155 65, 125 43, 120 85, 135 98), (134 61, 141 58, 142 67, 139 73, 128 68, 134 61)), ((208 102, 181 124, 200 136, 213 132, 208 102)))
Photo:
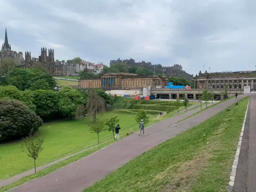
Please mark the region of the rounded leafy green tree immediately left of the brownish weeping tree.
POLYGON ((78 90, 72 89, 71 87, 62 88, 58 92, 58 97, 59 111, 64 116, 70 117, 71 119, 76 115, 77 106, 83 104, 84 102, 83 95, 78 90))

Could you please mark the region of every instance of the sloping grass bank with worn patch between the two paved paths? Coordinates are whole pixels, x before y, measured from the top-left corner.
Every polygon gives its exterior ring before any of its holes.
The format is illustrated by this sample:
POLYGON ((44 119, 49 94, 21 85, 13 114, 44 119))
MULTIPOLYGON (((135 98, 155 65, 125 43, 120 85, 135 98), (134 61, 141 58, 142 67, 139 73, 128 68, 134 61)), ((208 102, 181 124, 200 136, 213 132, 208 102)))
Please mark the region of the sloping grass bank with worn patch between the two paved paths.
POLYGON ((84 192, 222 192, 249 97, 131 160, 84 192))

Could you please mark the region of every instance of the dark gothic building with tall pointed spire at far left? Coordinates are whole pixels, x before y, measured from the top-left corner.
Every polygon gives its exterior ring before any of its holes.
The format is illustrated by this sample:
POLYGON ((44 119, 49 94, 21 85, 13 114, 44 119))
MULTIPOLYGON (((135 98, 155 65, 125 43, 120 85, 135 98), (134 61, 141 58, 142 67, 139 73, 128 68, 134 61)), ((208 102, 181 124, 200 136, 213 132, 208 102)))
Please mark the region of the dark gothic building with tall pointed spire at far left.
POLYGON ((0 50, 0 59, 13 59, 17 66, 24 64, 22 52, 17 53, 11 50, 11 44, 8 43, 7 30, 5 28, 4 43, 0 50))

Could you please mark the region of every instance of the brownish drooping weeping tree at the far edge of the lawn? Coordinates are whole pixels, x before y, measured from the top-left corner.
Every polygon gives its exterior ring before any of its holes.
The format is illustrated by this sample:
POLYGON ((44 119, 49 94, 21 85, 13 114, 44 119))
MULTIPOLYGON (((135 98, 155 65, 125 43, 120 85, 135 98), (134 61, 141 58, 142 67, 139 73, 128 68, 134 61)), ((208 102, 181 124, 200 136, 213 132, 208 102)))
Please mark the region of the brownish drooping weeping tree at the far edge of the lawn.
POLYGON ((76 110, 76 117, 84 117, 85 114, 93 116, 93 123, 96 123, 96 114, 105 111, 105 100, 97 95, 96 90, 90 90, 84 105, 79 105, 76 110))

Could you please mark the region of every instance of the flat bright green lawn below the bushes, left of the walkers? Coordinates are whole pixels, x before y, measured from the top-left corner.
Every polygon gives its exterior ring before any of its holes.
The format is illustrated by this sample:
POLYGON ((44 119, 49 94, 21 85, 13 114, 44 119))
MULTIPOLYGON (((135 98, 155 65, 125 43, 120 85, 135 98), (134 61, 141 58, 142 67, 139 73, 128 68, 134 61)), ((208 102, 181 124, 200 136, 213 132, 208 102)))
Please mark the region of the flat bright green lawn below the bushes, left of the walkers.
MULTIPOLYGON (((122 114, 106 112, 101 118, 107 119, 118 116, 120 119, 121 133, 136 127, 135 114, 122 114)), ((76 151, 96 145, 96 133, 89 131, 88 124, 91 118, 84 120, 70 120, 55 123, 46 123, 39 128, 35 138, 44 138, 44 150, 40 154, 37 165, 58 160, 76 151)), ((111 132, 102 132, 100 141, 112 138, 111 132)), ((33 161, 20 148, 21 142, 0 144, 0 180, 22 173, 33 168, 33 161)))

